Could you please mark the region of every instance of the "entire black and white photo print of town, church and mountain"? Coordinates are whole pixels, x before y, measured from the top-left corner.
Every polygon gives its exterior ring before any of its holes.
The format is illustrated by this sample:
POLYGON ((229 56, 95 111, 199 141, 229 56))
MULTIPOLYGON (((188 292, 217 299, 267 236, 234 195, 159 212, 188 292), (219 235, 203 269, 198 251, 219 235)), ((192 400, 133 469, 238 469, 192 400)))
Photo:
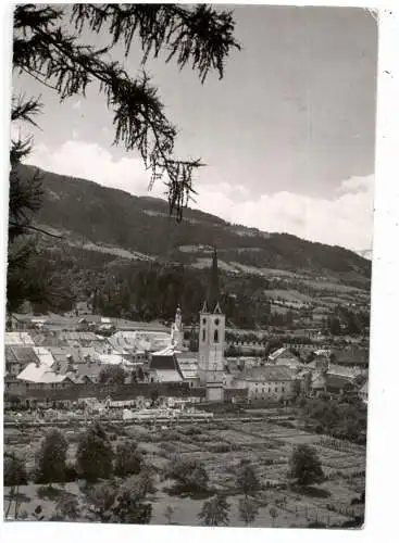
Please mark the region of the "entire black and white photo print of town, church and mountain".
POLYGON ((363 528, 378 11, 10 31, 3 520, 363 528))

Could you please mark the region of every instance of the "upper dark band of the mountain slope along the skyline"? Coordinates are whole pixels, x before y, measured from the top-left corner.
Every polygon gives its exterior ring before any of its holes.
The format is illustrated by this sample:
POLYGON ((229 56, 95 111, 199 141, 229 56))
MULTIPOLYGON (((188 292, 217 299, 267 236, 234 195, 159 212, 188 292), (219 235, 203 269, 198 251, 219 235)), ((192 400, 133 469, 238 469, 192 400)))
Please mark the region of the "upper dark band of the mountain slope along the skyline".
MULTIPOLYGON (((33 166, 21 166, 28 179, 33 166)), ((134 197, 93 181, 42 172, 43 204, 36 223, 65 235, 72 245, 109 251, 122 258, 207 265, 212 245, 232 273, 283 270, 367 288, 371 263, 339 247, 236 226, 187 209, 182 224, 169 216, 167 203, 134 197)))

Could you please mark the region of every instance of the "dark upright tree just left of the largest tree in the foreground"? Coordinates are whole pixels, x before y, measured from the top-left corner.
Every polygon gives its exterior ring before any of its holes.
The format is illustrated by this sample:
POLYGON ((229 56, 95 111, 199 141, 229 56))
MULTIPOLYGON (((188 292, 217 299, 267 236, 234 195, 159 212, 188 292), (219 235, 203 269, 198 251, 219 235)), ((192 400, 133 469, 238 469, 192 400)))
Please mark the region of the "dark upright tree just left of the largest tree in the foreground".
POLYGON ((65 480, 67 441, 59 430, 51 430, 42 440, 36 456, 37 482, 65 480))

